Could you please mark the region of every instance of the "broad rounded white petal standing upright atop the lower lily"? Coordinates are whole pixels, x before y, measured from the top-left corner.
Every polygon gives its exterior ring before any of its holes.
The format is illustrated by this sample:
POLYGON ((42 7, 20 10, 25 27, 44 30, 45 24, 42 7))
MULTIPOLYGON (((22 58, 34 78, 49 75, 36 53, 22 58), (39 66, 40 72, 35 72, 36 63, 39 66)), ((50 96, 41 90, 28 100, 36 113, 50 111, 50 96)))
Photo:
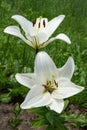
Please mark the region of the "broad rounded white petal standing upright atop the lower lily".
POLYGON ((39 52, 35 60, 35 73, 37 80, 41 83, 45 83, 48 79, 51 80, 52 76, 57 74, 57 68, 45 52, 39 52))

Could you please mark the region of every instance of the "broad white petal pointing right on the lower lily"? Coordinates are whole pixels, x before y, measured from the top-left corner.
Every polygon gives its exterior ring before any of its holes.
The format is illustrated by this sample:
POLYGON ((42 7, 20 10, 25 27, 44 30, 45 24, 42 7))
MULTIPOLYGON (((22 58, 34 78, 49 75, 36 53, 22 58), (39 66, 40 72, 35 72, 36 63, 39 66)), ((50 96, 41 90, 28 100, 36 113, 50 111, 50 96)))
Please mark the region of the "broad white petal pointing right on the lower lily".
POLYGON ((84 87, 78 86, 68 79, 61 79, 58 83, 58 89, 54 90, 52 97, 56 99, 65 99, 83 91, 84 87))

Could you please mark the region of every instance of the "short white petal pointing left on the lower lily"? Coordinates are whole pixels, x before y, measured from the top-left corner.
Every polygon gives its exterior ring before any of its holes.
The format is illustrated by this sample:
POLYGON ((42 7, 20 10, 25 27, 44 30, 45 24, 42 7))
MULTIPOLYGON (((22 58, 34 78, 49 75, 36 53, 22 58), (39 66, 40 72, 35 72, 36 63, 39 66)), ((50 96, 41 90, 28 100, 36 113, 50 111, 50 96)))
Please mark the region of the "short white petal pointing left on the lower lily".
POLYGON ((32 73, 16 74, 15 77, 16 77, 16 80, 20 84, 22 84, 28 88, 32 88, 36 84, 35 74, 32 74, 32 73))

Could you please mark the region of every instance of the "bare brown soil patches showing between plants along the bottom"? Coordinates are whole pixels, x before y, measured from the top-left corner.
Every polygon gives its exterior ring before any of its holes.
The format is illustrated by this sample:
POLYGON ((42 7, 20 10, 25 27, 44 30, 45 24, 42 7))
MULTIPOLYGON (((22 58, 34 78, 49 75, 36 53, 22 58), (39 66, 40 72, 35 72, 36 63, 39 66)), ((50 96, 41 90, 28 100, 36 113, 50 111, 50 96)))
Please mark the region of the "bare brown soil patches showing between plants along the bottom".
MULTIPOLYGON (((13 105, 12 104, 0 104, 0 130, 12 130, 8 126, 8 121, 12 118, 14 118, 14 114, 12 112, 13 105)), ((70 105, 70 110, 76 113, 80 113, 81 110, 76 108, 74 105, 70 105)), ((83 110, 82 110, 83 111, 83 110)), ((85 110, 87 113, 87 110, 85 110)), ((33 129, 31 127, 30 120, 36 118, 34 114, 28 113, 26 110, 23 111, 23 113, 20 116, 20 119, 23 119, 21 125, 18 127, 18 130, 37 130, 33 129)), ((87 130, 86 127, 84 128, 73 128, 69 123, 65 124, 69 130, 87 130)), ((45 130, 44 128, 39 130, 45 130)))

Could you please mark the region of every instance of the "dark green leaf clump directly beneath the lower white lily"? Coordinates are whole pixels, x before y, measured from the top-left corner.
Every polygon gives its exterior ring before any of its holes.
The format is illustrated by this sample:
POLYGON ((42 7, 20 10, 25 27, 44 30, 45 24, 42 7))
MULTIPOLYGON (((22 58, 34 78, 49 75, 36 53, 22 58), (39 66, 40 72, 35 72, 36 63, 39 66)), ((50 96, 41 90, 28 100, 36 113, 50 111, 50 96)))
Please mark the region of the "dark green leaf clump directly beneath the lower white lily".
POLYGON ((32 120, 34 128, 41 128, 46 125, 46 130, 68 130, 64 126, 64 118, 46 107, 34 108, 29 112, 34 112, 38 116, 37 119, 32 120))

